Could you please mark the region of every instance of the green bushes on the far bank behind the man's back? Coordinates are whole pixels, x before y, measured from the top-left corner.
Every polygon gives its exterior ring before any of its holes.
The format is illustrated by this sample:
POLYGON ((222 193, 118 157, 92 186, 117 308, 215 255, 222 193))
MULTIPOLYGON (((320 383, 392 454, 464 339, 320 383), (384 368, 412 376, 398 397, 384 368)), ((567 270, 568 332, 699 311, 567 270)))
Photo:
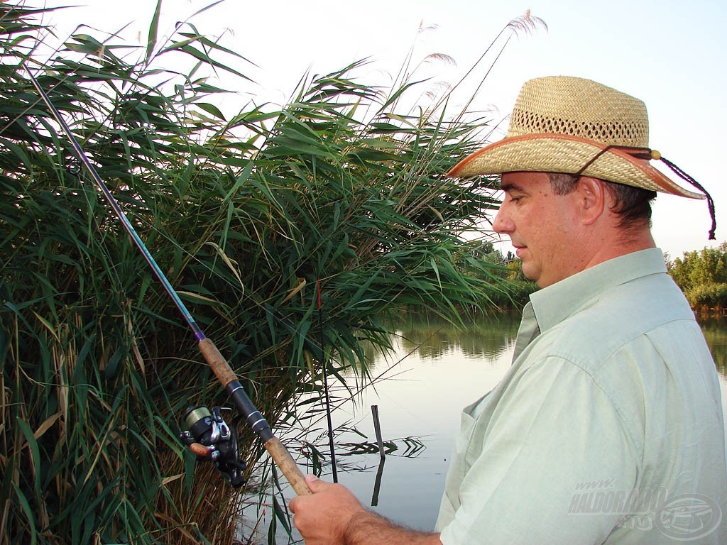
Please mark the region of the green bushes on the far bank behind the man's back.
POLYGON ((673 261, 666 256, 665 260, 669 274, 692 308, 704 313, 727 308, 727 242, 687 251, 673 261))

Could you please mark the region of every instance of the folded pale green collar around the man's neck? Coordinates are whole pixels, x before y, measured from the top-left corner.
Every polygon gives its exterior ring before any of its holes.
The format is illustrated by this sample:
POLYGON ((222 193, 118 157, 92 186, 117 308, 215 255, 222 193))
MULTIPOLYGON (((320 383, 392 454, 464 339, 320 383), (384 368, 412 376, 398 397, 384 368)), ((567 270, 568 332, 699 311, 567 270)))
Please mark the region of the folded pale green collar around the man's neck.
POLYGON ((666 273, 661 249, 650 248, 594 265, 530 295, 539 330, 561 323, 609 288, 636 278, 666 273))

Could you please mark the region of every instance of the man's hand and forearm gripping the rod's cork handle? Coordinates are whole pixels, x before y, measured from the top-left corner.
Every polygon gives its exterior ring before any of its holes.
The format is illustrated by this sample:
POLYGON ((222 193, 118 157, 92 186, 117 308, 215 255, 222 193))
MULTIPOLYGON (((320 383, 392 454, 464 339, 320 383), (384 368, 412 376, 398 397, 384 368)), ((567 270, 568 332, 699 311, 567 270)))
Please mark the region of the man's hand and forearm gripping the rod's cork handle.
POLYGON ((345 486, 313 475, 305 483, 312 494, 290 501, 305 545, 441 545, 438 533, 401 528, 369 511, 345 486))

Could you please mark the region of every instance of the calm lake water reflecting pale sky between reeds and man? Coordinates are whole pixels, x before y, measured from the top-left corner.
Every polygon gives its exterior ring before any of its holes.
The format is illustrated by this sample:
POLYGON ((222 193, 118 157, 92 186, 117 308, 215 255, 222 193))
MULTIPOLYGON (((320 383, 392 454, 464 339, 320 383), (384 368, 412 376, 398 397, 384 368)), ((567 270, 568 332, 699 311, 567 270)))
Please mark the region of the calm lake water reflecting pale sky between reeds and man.
MULTIPOLYGON (((370 370, 378 377, 373 386, 353 399, 342 387, 332 387, 338 482, 390 520, 432 530, 459 415, 505 374, 518 325, 519 315, 514 314, 483 319, 464 332, 443 323, 401 323, 392 339, 395 352, 378 355, 370 370), (363 450, 361 443, 377 443, 371 405, 377 405, 383 440, 397 447, 383 466, 378 451, 357 452, 363 450)), ((702 320, 701 325, 718 366, 727 412, 727 319, 702 320)), ((355 376, 348 382, 354 391, 360 386, 355 376)), ((314 418, 307 439, 327 455, 327 437, 319 437, 325 429, 324 416, 314 418)), ((328 462, 326 457, 322 478, 332 480, 328 462)), ((304 463, 303 472, 312 472, 304 463)))

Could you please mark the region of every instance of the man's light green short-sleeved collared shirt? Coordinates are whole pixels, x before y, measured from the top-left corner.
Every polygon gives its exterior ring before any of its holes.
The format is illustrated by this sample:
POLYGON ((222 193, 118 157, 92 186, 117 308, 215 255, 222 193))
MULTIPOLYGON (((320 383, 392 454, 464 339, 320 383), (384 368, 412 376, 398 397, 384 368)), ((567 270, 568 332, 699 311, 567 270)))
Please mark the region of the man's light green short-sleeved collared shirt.
POLYGON ((725 460, 702 331, 662 252, 639 251, 531 295, 513 366, 462 413, 436 528, 443 545, 727 544, 725 460))

